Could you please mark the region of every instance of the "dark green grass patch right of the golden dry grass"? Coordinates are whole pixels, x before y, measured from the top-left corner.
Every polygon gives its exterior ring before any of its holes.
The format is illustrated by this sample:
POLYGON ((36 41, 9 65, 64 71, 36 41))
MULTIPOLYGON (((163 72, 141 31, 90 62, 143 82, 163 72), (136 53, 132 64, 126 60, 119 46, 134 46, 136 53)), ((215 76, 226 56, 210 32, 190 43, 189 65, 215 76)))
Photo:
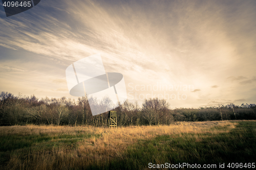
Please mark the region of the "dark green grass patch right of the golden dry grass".
MULTIPOLYGON (((215 127, 225 130, 226 127, 215 127)), ((228 133, 183 133, 140 140, 125 155, 102 167, 90 169, 144 169, 153 164, 256 163, 256 122, 239 122, 228 133)))

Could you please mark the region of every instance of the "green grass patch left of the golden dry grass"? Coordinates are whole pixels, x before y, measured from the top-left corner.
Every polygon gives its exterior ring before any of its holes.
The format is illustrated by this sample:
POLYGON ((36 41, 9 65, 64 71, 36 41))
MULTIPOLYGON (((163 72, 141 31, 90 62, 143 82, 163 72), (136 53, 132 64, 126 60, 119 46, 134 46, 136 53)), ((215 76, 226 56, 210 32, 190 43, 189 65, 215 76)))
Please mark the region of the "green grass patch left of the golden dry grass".
MULTIPOLYGON (((52 153, 54 150, 65 148, 66 150, 75 150, 78 141, 84 138, 96 137, 101 134, 84 133, 76 131, 74 135, 64 133, 39 133, 39 134, 15 134, 0 135, 0 167, 5 165, 11 156, 19 155, 26 157, 31 153, 52 153)), ((1 169, 1 168, 0 168, 1 169)))

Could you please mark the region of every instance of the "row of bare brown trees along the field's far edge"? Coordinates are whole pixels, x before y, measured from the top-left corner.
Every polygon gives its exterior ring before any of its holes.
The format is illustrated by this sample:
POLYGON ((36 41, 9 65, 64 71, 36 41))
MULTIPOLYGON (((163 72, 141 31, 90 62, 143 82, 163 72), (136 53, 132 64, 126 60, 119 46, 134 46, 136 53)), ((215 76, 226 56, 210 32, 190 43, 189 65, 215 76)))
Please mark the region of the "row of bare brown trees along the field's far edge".
MULTIPOLYGON (((90 100, 90 99, 89 99, 90 100)), ((0 94, 0 126, 12 125, 92 125, 108 126, 108 112, 92 115, 88 99, 77 101, 62 97, 42 98, 35 95, 14 96, 2 91, 0 94)), ((256 119, 255 104, 234 104, 200 107, 198 109, 170 109, 164 99, 146 99, 139 106, 137 102, 125 101, 114 109, 117 111, 117 126, 169 125, 182 121, 256 119)))

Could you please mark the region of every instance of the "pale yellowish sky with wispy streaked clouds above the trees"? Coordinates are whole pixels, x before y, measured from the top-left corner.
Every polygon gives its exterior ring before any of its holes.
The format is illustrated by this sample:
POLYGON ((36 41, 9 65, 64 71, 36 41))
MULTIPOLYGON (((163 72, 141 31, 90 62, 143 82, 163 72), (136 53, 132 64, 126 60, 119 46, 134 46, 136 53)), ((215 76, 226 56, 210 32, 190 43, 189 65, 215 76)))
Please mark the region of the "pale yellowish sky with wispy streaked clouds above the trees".
POLYGON ((69 94, 66 68, 100 54, 127 100, 170 108, 256 102, 256 1, 48 1, 6 17, 0 91, 69 94))

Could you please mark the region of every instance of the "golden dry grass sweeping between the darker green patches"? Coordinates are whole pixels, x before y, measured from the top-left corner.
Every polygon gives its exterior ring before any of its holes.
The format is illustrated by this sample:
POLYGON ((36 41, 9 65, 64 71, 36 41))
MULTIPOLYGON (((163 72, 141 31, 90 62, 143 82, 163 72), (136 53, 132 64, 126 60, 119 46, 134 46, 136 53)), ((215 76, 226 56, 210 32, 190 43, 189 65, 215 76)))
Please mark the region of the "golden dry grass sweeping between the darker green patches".
MULTIPOLYGON (((158 135, 170 135, 181 133, 220 133, 228 132, 235 128, 236 123, 229 121, 214 122, 177 122, 169 126, 131 126, 116 128, 101 128, 92 126, 12 126, 0 127, 0 134, 5 135, 35 135, 47 134, 58 136, 59 134, 76 135, 77 132, 100 134, 100 137, 92 136, 78 141, 76 149, 67 150, 60 147, 57 150, 34 152, 26 157, 17 154, 11 155, 6 167, 8 169, 69 169, 70 167, 89 167, 109 162, 116 156, 122 156, 126 148, 140 139, 151 139, 158 135), (226 127, 220 131, 216 126, 226 127)), ((200 141, 200 137, 197 138, 200 141)), ((56 139, 52 139, 55 142, 56 139)), ((22 151, 22 150, 21 150, 22 151)))

